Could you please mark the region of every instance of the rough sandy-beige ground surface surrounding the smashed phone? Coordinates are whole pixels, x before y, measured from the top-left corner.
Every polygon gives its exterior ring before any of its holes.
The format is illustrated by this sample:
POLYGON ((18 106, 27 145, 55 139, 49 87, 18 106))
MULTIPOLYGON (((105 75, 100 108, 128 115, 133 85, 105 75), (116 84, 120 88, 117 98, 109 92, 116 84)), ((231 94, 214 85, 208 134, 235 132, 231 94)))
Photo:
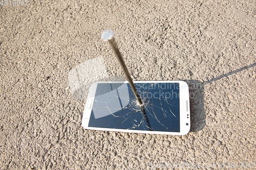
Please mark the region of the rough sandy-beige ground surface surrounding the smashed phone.
POLYGON ((0 169, 255 168, 255 13, 253 1, 1 6, 0 169), (105 29, 135 80, 198 85, 187 135, 82 128, 85 101, 72 98, 68 72, 102 56, 110 76, 123 76, 105 29))

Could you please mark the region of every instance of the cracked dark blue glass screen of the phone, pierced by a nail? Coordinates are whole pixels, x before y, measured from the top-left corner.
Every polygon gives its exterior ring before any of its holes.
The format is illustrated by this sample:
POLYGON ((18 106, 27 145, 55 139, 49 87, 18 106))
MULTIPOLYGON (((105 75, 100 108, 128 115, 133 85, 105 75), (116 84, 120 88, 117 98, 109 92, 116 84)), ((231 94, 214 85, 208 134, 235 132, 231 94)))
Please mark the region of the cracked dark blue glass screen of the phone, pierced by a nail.
POLYGON ((135 83, 144 110, 129 83, 99 83, 89 127, 180 132, 179 83, 135 83))

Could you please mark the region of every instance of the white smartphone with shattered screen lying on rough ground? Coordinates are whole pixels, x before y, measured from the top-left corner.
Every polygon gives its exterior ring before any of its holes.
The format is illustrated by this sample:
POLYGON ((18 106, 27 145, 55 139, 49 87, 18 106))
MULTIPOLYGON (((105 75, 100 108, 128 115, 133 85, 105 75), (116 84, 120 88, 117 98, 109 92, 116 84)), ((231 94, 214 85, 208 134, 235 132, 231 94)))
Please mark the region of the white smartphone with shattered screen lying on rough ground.
POLYGON ((91 130, 165 135, 185 135, 189 132, 186 82, 134 81, 134 84, 144 109, 140 108, 127 81, 92 84, 82 126, 91 130))

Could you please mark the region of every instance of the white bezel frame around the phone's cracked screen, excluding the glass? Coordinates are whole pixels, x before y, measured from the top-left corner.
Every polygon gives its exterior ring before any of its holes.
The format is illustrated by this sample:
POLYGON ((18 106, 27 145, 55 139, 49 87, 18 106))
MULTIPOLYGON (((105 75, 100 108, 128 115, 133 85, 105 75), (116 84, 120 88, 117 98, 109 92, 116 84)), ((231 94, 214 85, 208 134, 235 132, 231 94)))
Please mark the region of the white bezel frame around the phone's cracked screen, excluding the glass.
POLYGON ((134 83, 179 83, 180 89, 180 132, 160 132, 160 131, 141 131, 141 130, 126 130, 126 129, 110 129, 110 128, 95 128, 88 127, 92 112, 94 96, 99 83, 128 83, 127 81, 104 81, 95 82, 91 85, 86 106, 84 107, 82 126, 85 129, 113 131, 113 132, 129 132, 129 133, 147 133, 147 134, 163 134, 163 135, 185 135, 190 130, 190 109, 189 109, 189 92, 188 85, 184 81, 134 81, 134 83), (188 125, 186 125, 188 124, 188 125))

